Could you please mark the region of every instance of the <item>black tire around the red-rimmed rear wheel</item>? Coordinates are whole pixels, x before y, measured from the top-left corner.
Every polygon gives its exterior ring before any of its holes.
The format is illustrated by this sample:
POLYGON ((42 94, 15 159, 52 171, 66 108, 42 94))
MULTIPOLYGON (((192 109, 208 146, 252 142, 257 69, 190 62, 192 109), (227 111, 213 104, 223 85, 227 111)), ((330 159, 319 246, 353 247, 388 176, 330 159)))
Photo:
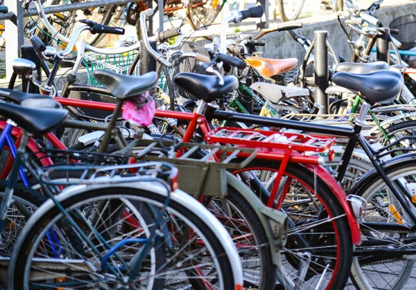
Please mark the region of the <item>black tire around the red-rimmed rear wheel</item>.
MULTIPOLYGON (((234 173, 240 174, 241 172, 246 172, 248 170, 271 170, 273 172, 278 172, 279 166, 280 163, 276 161, 254 160, 243 170, 239 170, 234 173)), ((318 176, 316 176, 317 179, 314 180, 313 172, 306 170, 306 168, 302 165, 289 163, 286 167, 285 174, 292 176, 293 179, 302 181, 302 183, 308 186, 308 188, 314 188, 314 182, 316 181, 316 188, 318 188, 317 191, 319 193, 317 197, 320 199, 322 205, 324 205, 324 208, 329 212, 329 216, 340 217, 335 219, 333 222, 333 228, 336 235, 338 235, 338 246, 336 247, 337 259, 332 278, 326 289, 343 289, 348 280, 349 270, 352 263, 351 253, 353 251, 351 232, 349 230, 348 221, 345 217, 343 208, 340 206, 338 199, 333 195, 333 192, 327 187, 326 183, 319 179, 318 176)), ((263 203, 267 203, 267 201, 264 200, 265 194, 261 194, 261 191, 259 192, 259 188, 252 188, 252 190, 257 192, 260 198, 263 198, 263 203)), ((288 245, 286 245, 286 248, 288 248, 288 245)), ((293 250, 295 250, 295 248, 293 248, 293 250)), ((289 274, 286 275, 288 276, 289 274)))

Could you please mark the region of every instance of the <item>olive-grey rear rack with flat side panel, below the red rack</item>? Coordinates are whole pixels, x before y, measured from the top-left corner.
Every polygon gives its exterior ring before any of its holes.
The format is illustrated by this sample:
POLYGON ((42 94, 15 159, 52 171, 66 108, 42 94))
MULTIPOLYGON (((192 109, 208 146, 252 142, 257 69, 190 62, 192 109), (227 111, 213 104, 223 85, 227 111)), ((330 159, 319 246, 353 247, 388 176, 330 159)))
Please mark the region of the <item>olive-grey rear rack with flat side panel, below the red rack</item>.
POLYGON ((257 150, 251 148, 139 139, 134 143, 135 147, 141 146, 135 158, 175 165, 179 170, 180 189, 197 199, 202 195, 224 197, 227 194, 225 172, 242 169, 257 156, 257 150), (143 149, 143 145, 147 147, 143 149), (182 156, 176 157, 174 149, 182 149, 182 156))

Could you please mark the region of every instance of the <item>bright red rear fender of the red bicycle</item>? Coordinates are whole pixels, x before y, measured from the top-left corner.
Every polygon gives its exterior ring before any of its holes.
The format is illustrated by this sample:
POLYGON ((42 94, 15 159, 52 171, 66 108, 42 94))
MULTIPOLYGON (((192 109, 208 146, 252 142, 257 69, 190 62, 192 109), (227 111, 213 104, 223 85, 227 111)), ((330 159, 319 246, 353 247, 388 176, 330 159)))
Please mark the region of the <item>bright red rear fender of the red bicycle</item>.
POLYGON ((340 185, 333 179, 331 174, 327 172, 322 166, 316 165, 304 165, 306 168, 311 170, 311 172, 316 172, 316 175, 319 176, 324 183, 326 183, 329 189, 333 192, 336 196, 340 205, 345 210, 345 215, 347 216, 349 229, 351 230, 351 237, 352 243, 356 246, 361 244, 361 232, 360 232, 360 224, 356 220, 354 213, 352 212, 352 208, 347 201, 347 194, 345 194, 344 190, 340 187, 340 185))

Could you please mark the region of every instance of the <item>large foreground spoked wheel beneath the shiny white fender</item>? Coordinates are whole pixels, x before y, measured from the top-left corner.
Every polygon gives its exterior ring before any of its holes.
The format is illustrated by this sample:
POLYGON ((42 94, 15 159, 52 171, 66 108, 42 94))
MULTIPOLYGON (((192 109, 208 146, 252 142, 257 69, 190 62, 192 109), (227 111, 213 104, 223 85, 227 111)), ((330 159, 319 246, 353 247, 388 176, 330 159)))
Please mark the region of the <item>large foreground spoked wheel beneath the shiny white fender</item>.
MULTIPOLYGON (((89 229, 92 227, 95 230, 101 229, 98 233, 101 237, 105 237, 105 241, 98 243, 100 247, 97 248, 101 249, 100 253, 92 252, 92 247, 83 242, 83 253, 74 251, 69 245, 66 248, 61 247, 64 259, 51 260, 51 253, 44 246, 46 231, 53 229, 57 235, 59 233, 57 239, 60 242, 65 238, 67 228, 75 229, 69 226, 67 219, 58 208, 51 202, 45 203, 19 237, 14 252, 15 260, 10 266, 12 276, 9 283, 15 289, 27 289, 35 285, 63 289, 67 287, 73 289, 74 285, 83 289, 107 289, 107 287, 121 287, 127 284, 125 281, 128 280, 129 275, 132 275, 131 268, 123 268, 121 265, 129 265, 128 262, 142 248, 137 239, 146 239, 152 229, 152 225, 146 224, 135 204, 148 204, 158 212, 166 196, 136 188, 101 188, 66 195, 66 198, 62 195, 57 197, 66 212, 71 216, 83 212, 85 221, 94 220, 94 224, 89 222, 89 229), (101 215, 102 211, 98 210, 98 206, 114 203, 119 206, 105 207, 107 210, 111 209, 114 215, 104 215, 106 218, 101 219, 103 215, 101 215), (116 213, 126 211, 128 215, 116 213), (112 217, 110 227, 106 226, 108 217, 112 217), (127 244, 126 239, 134 240, 132 244, 127 244), (114 255, 111 255, 107 263, 103 261, 103 256, 109 252, 105 244, 109 244, 114 251, 114 255), (116 245, 119 248, 116 248, 116 245), (44 258, 39 259, 41 257, 44 258), (60 266, 51 269, 49 263, 52 261, 64 267, 64 273, 60 271, 60 266)), ((171 201, 164 214, 168 236, 164 237, 163 242, 153 244, 150 255, 142 263, 140 275, 132 277, 128 287, 154 289, 155 280, 163 279, 166 288, 188 287, 191 281, 193 287, 202 283, 214 289, 233 289, 232 265, 220 242, 223 237, 217 237, 207 223, 184 204, 184 196, 188 197, 186 194, 182 192, 182 199, 176 196, 177 192, 171 194, 171 201), (166 253, 164 261, 156 259, 155 251, 159 248, 166 253)), ((93 238, 98 237, 97 231, 89 229, 86 229, 85 233, 89 235, 90 241, 94 241, 93 238)), ((69 244, 73 243, 72 240, 66 240, 69 244)), ((57 244, 60 245, 58 242, 57 244)))

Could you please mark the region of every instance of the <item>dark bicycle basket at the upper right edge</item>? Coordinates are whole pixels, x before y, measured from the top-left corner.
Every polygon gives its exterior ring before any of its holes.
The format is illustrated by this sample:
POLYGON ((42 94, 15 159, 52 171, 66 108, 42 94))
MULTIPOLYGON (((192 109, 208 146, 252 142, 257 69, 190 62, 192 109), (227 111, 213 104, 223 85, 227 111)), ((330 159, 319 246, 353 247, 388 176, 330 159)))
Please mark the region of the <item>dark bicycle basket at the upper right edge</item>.
POLYGON ((395 38, 401 42, 401 49, 408 51, 416 46, 416 15, 404 15, 397 17, 390 23, 391 29, 398 29, 399 34, 395 38))

